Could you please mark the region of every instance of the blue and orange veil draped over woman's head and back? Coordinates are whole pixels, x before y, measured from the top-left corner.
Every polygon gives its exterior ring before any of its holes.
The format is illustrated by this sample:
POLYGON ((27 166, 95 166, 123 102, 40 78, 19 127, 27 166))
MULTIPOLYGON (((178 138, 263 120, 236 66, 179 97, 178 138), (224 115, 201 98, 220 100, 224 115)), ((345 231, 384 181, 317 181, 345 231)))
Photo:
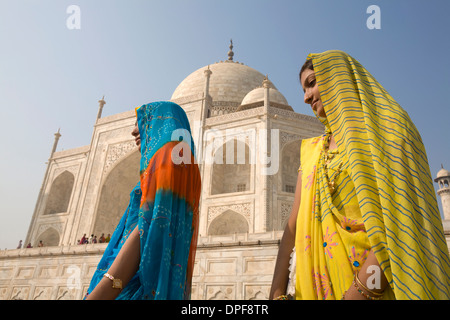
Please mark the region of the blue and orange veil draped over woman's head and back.
POLYGON ((164 101, 143 105, 136 115, 142 154, 141 295, 189 298, 201 188, 189 121, 180 106, 164 101))

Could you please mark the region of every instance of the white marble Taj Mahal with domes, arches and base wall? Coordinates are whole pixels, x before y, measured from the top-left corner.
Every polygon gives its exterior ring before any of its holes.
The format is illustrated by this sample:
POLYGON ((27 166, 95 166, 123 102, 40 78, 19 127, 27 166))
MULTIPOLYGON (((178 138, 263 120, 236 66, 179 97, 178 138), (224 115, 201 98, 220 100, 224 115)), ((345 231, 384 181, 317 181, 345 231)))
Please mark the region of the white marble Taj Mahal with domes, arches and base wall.
MULTIPOLYGON (((187 114, 202 178, 192 299, 267 299, 301 141, 323 125, 294 112, 268 75, 234 61, 232 44, 226 60, 192 72, 168 100, 187 114)), ((56 151, 55 133, 24 241, 33 248, 0 252, 0 300, 83 298, 107 243, 78 242, 112 234, 139 181, 134 109, 102 117, 105 98, 98 104, 87 145, 56 151)), ((450 245, 450 172, 435 182, 450 245)))

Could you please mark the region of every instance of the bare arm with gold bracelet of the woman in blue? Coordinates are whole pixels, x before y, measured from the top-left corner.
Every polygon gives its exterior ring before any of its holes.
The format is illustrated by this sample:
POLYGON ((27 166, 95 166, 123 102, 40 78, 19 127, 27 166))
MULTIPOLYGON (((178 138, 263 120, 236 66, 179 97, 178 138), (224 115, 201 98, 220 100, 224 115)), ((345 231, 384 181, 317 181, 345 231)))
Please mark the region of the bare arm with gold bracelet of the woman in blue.
MULTIPOLYGON (((109 268, 108 273, 115 279, 122 280, 122 288, 125 288, 138 271, 139 261, 140 238, 139 230, 135 227, 109 268)), ((112 281, 103 277, 86 300, 114 300, 119 293, 120 289, 113 288, 112 281)))

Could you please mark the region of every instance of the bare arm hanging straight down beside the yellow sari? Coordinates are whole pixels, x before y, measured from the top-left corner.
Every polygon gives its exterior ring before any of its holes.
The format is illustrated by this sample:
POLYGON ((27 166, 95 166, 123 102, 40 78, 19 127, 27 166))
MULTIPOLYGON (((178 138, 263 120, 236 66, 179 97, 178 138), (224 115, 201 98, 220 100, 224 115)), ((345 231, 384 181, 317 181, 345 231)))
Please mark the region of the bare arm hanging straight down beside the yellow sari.
POLYGON ((302 190, 302 172, 297 176, 297 186, 295 187, 295 198, 289 220, 284 229, 278 249, 275 271, 273 274, 272 287, 270 289, 269 299, 274 299, 280 295, 286 294, 286 288, 289 280, 289 260, 292 249, 295 246, 295 230, 297 224, 297 213, 300 207, 302 190))

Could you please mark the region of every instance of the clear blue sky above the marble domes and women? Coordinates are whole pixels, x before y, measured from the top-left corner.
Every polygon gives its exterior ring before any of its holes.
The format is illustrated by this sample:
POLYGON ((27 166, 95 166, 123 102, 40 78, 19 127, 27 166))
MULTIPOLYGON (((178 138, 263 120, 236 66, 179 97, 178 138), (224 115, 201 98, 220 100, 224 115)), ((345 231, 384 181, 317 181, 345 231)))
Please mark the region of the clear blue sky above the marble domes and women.
MULTIPOLYGON (((366 67, 419 129, 431 173, 450 169, 450 1, 0 0, 0 248, 25 240, 54 133, 90 143, 98 100, 112 115, 170 99, 191 72, 227 58, 269 74, 296 112, 309 52, 366 67), (66 26, 69 5, 81 29, 66 26), (369 30, 367 7, 381 9, 369 30)), ((440 203, 440 199, 438 199, 440 203)))

